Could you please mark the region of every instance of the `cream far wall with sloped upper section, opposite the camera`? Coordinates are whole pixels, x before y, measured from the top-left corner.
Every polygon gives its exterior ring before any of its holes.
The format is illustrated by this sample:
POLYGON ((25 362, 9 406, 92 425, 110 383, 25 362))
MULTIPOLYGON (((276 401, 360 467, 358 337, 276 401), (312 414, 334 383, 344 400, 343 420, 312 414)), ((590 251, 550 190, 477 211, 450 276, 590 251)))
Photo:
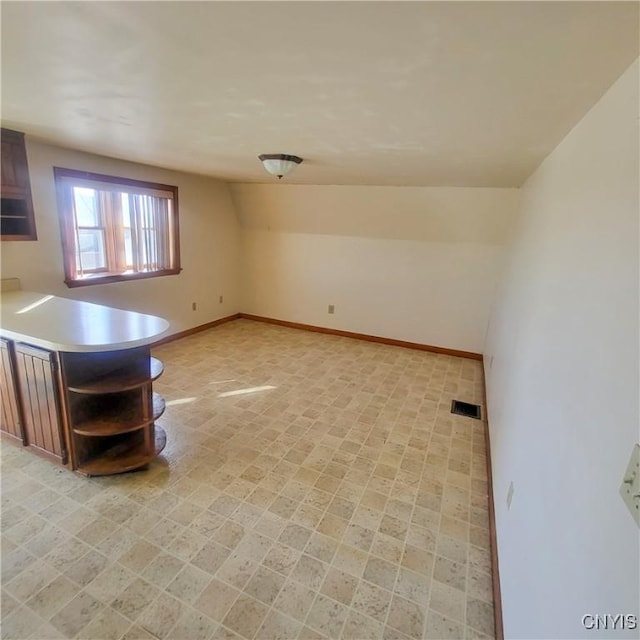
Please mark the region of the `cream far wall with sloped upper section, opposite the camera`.
POLYGON ((231 192, 243 227, 243 311, 482 350, 517 189, 236 184, 231 192))

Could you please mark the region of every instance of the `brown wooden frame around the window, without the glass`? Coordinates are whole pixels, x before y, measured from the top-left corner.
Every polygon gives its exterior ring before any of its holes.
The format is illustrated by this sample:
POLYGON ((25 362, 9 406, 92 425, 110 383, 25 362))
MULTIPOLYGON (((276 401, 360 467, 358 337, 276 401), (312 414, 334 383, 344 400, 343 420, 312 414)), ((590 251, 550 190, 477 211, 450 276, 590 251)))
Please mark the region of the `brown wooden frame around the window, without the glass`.
MULTIPOLYGON (((54 182, 56 187, 56 196, 58 202, 58 220, 60 223, 60 236, 62 240, 62 257, 64 263, 64 282, 67 287, 86 287, 94 284, 108 284, 110 282, 124 282, 128 280, 143 280, 146 278, 158 278, 161 276, 178 275, 182 271, 180 262, 180 226, 178 212, 178 187, 157 182, 147 182, 145 180, 134 180, 132 178, 121 178, 101 173, 92 173, 89 171, 80 171, 77 169, 66 169, 63 167, 53 167, 54 182), (68 188, 69 182, 76 180, 85 180, 91 182, 103 182, 123 187, 135 187, 138 189, 147 189, 152 191, 165 191, 172 194, 170 224, 172 229, 173 242, 171 243, 171 253, 173 255, 173 266, 168 269, 158 269, 156 271, 138 271, 133 273, 114 273, 108 268, 104 270, 92 271, 90 277, 77 278, 76 275, 76 247, 74 237, 76 234, 75 221, 71 212, 73 211, 73 203, 69 201, 72 189, 68 188)), ((76 186, 86 186, 78 184, 76 186)), ((105 213, 100 211, 100 217, 105 229, 109 223, 104 219, 105 213)), ((105 231, 106 233, 106 231, 105 231)), ((108 247, 105 251, 108 252, 108 247)), ((108 264, 108 257, 107 257, 108 264)))

